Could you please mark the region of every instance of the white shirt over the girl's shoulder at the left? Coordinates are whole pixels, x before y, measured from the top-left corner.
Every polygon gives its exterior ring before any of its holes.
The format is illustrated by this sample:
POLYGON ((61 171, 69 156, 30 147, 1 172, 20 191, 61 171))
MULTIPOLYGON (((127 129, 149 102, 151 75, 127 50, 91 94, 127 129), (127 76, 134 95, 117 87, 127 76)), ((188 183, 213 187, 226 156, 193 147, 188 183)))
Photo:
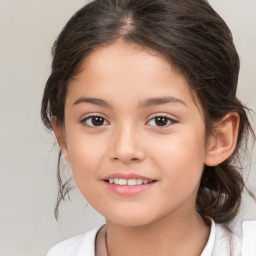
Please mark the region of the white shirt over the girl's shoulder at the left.
POLYGON ((93 256, 95 254, 95 238, 100 228, 101 226, 56 244, 47 253, 47 256, 93 256))

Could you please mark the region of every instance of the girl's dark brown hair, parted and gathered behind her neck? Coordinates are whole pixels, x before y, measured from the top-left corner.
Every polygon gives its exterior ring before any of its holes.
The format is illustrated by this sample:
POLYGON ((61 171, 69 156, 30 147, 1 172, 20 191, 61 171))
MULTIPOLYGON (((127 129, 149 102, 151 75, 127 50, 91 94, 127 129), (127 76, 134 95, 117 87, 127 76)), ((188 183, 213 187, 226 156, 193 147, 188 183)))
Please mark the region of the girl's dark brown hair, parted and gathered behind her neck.
MULTIPOLYGON (((214 130, 213 121, 231 111, 239 114, 235 152, 218 166, 205 166, 197 197, 202 216, 219 223, 231 221, 245 186, 237 167, 239 152, 254 133, 246 108, 236 97, 240 63, 232 34, 206 0, 96 0, 84 6, 53 46, 52 72, 42 100, 43 123, 52 129, 51 118, 56 116, 64 124, 67 88, 79 64, 90 52, 118 39, 153 49, 176 66, 203 106, 208 134, 214 130)), ((70 189, 62 179, 61 152, 57 176, 56 216, 70 189)))

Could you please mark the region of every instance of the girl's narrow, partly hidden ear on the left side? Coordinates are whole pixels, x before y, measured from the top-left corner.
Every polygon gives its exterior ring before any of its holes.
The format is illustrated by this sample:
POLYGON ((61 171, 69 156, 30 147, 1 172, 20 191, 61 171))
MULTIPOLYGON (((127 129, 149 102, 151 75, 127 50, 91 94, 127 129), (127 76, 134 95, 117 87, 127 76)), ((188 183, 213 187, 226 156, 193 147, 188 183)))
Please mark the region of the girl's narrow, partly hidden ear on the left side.
POLYGON ((52 117, 52 128, 55 133, 58 144, 61 148, 61 151, 64 155, 64 159, 66 162, 69 163, 70 161, 69 161, 69 154, 68 154, 67 143, 65 139, 64 128, 59 124, 56 116, 52 117))

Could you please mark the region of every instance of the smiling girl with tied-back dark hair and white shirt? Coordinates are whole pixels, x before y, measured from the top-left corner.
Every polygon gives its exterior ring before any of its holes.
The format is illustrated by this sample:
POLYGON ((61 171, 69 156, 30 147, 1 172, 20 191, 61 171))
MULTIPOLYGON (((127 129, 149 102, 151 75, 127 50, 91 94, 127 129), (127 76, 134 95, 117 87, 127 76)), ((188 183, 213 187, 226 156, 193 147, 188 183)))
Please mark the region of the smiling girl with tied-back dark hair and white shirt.
MULTIPOLYGON (((256 255, 228 224, 252 131, 236 97, 239 57, 205 0, 96 0, 53 48, 42 119, 106 225, 48 256, 256 255)), ((254 237, 254 238, 253 238, 254 237)))

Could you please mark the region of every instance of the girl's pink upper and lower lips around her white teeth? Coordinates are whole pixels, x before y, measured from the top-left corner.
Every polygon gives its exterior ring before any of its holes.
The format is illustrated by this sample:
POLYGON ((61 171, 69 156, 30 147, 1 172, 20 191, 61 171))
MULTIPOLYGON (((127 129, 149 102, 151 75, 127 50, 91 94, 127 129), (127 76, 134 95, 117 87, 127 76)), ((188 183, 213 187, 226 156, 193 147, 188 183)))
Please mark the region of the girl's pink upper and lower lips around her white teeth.
POLYGON ((152 186, 155 185, 155 180, 150 179, 148 177, 136 174, 136 173, 123 173, 123 172, 119 172, 119 173, 114 173, 111 174, 109 176, 106 176, 104 179, 104 183, 106 184, 107 188, 109 190, 111 190, 112 192, 120 195, 120 196, 135 196, 140 194, 141 192, 150 189, 152 186), (130 185, 117 185, 114 183, 109 183, 107 182, 107 180, 109 179, 143 179, 143 180, 148 180, 150 183, 147 184, 141 184, 141 185, 134 185, 134 186, 130 186, 130 185))

